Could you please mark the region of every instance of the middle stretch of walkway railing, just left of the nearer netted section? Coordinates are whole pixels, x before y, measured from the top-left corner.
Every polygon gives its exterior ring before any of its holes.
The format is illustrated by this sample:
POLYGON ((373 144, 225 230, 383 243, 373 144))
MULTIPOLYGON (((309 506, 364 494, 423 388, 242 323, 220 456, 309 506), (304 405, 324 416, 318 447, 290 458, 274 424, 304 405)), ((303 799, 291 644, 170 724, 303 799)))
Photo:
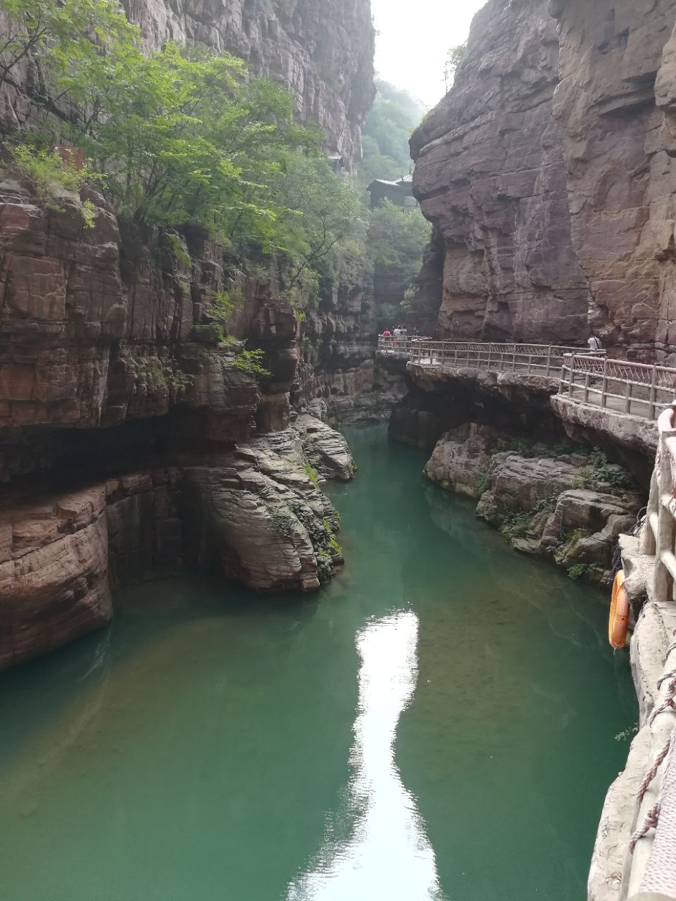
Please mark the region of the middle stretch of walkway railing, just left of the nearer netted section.
POLYGON ((563 359, 571 353, 583 354, 585 351, 560 344, 414 341, 410 362, 438 369, 489 369, 560 378, 563 359))

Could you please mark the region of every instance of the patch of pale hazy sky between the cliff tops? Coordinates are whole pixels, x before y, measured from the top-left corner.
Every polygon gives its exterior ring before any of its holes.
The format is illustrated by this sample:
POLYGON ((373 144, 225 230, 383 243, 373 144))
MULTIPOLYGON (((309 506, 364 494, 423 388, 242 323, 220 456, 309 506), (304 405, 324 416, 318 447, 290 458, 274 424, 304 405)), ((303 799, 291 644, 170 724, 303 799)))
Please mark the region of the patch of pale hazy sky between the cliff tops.
POLYGON ((443 97, 443 63, 461 44, 486 0, 371 0, 379 77, 405 87, 425 105, 443 97))

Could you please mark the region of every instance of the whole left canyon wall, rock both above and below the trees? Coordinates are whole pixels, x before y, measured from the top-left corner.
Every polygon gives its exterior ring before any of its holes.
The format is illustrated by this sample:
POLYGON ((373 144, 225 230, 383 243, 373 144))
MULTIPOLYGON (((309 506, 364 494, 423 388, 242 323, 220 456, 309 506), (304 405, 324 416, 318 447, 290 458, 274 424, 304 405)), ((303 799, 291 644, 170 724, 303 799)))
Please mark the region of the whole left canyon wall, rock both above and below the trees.
MULTIPOLYGON (((293 91, 343 168, 360 156, 368 0, 127 12, 147 49, 204 41, 247 59, 293 91)), ((26 66, 5 85, 0 131, 30 119, 30 84, 26 66)), ((309 591, 342 565, 320 484, 352 478, 352 457, 298 409, 373 386, 370 306, 361 286, 323 287, 307 328, 324 356, 308 366, 303 316, 264 263, 190 227, 173 242, 141 233, 87 188, 53 208, 0 182, 0 668, 107 623, 112 589, 134 579, 198 569, 309 591), (241 298, 226 341, 208 303, 222 290, 241 298), (244 342, 264 373, 247 367, 244 342)))

